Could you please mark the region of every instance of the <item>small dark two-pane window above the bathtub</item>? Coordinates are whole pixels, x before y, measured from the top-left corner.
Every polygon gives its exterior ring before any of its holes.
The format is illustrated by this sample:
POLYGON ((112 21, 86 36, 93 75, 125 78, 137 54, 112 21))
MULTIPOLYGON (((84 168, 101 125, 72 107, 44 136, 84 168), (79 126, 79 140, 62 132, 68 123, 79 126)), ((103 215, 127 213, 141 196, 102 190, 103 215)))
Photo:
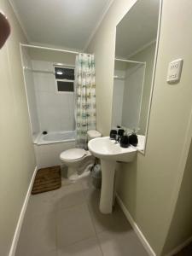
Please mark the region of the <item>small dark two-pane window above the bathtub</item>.
POLYGON ((74 67, 55 67, 57 92, 74 91, 74 67))

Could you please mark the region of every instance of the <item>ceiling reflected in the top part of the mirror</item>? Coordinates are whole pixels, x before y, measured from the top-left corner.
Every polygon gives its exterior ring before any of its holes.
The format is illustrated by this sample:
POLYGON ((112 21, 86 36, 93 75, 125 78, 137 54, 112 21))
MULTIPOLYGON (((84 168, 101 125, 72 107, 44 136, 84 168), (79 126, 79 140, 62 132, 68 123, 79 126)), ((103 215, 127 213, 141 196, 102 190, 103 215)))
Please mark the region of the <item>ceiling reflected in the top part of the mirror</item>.
POLYGON ((138 0, 117 26, 116 57, 127 58, 154 42, 160 0, 138 0))

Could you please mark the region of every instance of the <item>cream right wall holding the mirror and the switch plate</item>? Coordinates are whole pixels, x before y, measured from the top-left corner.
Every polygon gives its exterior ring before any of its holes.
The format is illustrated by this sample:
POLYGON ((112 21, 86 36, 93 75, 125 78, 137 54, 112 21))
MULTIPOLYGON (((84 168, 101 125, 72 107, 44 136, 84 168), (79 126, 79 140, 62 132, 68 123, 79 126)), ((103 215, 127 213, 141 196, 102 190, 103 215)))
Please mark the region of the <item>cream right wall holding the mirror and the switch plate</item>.
MULTIPOLYGON (((96 122, 103 135, 112 120, 115 28, 135 2, 114 1, 88 47, 96 54, 96 122)), ((191 1, 163 1, 146 152, 120 170, 119 196, 157 255, 166 242, 192 136, 191 16, 191 1), (167 84, 168 63, 178 57, 184 59, 182 79, 167 84)))

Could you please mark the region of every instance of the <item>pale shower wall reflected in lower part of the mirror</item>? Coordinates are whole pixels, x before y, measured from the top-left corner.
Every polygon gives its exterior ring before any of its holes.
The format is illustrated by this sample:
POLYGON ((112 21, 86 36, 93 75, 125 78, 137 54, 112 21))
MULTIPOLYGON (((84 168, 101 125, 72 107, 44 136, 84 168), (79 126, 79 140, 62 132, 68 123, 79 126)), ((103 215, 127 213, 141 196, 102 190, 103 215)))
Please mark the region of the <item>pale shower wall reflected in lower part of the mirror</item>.
POLYGON ((144 66, 116 62, 113 80, 112 126, 122 125, 134 129, 139 126, 144 66))

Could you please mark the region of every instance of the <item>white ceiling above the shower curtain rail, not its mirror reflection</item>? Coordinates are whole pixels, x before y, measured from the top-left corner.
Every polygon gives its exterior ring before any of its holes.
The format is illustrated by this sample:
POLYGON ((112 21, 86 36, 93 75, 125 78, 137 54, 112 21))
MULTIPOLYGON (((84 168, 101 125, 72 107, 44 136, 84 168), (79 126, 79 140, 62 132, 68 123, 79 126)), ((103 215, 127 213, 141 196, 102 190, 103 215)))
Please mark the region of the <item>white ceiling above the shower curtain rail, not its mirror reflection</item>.
POLYGON ((112 0, 9 0, 29 43, 84 49, 112 0))

